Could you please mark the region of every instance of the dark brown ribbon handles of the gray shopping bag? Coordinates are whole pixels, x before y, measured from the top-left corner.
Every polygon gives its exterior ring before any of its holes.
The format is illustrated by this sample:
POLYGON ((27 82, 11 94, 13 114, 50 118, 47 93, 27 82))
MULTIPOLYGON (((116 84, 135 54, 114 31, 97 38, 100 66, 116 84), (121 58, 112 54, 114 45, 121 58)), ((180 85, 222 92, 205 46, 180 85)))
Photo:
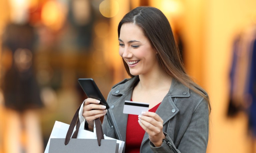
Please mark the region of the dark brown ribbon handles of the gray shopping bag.
MULTIPOLYGON (((72 138, 77 138, 77 135, 78 135, 78 131, 79 131, 79 127, 80 127, 80 120, 79 120, 79 109, 80 107, 82 106, 83 103, 80 104, 80 106, 78 107, 78 109, 76 110, 75 112, 75 115, 69 125, 69 128, 68 128, 68 132, 66 134, 66 138, 65 138, 65 145, 67 145, 70 141, 70 137, 73 133, 73 130, 76 126, 76 130, 74 132, 74 134, 72 135, 72 138)), ((98 141, 98 145, 100 146, 101 143, 101 139, 104 139, 104 133, 103 133, 103 130, 102 130, 102 125, 101 125, 101 121, 100 121, 100 118, 97 118, 94 120, 95 121, 95 128, 96 128, 96 136, 97 136, 97 141, 98 141)))

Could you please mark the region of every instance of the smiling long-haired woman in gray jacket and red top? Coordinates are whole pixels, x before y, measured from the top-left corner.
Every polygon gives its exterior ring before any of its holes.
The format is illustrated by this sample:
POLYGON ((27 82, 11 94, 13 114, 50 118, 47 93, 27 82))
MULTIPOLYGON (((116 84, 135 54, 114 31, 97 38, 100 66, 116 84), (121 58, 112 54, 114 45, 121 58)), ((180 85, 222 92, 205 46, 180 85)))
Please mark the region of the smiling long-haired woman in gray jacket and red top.
POLYGON ((206 152, 209 98, 186 74, 164 14, 137 7, 120 21, 118 37, 131 78, 113 86, 108 110, 96 99, 85 100, 85 128, 93 129, 93 120, 105 115, 104 133, 125 141, 124 152, 206 152), (125 100, 147 102, 150 110, 123 114, 125 100))

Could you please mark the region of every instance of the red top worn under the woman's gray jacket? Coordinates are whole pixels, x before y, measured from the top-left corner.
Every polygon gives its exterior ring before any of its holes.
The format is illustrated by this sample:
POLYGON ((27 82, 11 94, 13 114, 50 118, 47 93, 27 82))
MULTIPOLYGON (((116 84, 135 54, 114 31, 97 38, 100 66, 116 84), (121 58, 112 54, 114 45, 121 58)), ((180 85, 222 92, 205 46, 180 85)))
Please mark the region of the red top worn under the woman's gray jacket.
MULTIPOLYGON (((160 103, 155 105, 153 108, 149 109, 149 111, 156 112, 156 109, 158 108, 160 103)), ((140 126, 138 120, 138 115, 128 114, 126 126, 125 153, 140 152, 140 145, 144 137, 145 130, 143 130, 143 128, 140 126)))

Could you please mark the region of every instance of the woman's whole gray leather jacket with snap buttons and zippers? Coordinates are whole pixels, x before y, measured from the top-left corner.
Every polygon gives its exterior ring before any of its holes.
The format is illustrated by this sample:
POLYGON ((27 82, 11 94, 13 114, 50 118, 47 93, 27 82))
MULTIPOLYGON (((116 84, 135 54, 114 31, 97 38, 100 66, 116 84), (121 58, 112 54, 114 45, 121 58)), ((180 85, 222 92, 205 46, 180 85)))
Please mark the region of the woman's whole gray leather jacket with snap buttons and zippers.
MULTIPOLYGON (((103 120, 106 136, 126 140, 128 114, 123 114, 125 100, 131 100, 138 76, 114 85, 107 102, 110 106, 103 120)), ((162 146, 154 147, 145 132, 140 153, 205 153, 208 143, 209 115, 207 101, 175 79, 156 113, 163 119, 166 139, 162 146)), ((125 150, 125 146, 124 146, 125 150)))

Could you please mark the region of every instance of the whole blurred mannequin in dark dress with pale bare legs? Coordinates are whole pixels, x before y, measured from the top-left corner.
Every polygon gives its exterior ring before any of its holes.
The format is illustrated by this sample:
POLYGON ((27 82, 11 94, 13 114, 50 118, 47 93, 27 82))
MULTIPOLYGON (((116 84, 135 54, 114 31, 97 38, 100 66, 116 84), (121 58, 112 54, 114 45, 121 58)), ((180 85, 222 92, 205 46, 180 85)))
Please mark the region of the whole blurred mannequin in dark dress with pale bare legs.
POLYGON ((34 40, 34 29, 29 25, 9 24, 3 35, 2 89, 6 107, 4 143, 7 153, 43 151, 37 114, 43 103, 33 71, 34 40))

